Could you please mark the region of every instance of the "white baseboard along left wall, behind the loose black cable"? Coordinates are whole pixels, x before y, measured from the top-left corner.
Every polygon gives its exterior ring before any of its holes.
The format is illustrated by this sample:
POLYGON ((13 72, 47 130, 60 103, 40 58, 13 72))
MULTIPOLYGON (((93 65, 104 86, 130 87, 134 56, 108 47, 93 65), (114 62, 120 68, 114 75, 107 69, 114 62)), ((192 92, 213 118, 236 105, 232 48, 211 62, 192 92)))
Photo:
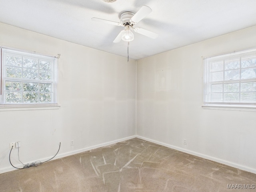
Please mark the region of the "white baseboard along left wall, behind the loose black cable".
MULTIPOLYGON (((136 135, 121 138, 121 139, 118 139, 118 140, 113 140, 113 141, 110 141, 110 142, 105 142, 105 143, 94 145, 94 146, 89 146, 89 147, 86 147, 86 148, 82 148, 82 149, 78 149, 78 150, 74 150, 74 151, 70 151, 70 152, 66 152, 66 153, 62 153, 62 154, 57 154, 52 160, 62 158, 62 157, 66 157, 66 156, 70 156, 70 155, 74 155, 74 154, 78 154, 78 153, 82 153, 82 152, 86 152, 88 150, 108 146, 108 145, 111 145, 111 144, 115 144, 115 143, 122 142, 122 141, 125 141, 125 140, 133 139, 133 138, 136 138, 136 135)), ((42 158, 42 159, 39 159, 39 161, 44 162, 44 161, 46 161, 50 158, 52 158, 52 157, 42 158)), ((34 161, 31 161, 31 162, 26 162, 26 164, 32 163, 32 162, 35 162, 35 161, 38 161, 38 160, 34 160, 34 161)), ((14 166, 20 167, 20 164, 17 164, 17 165, 14 165, 14 166)), ((13 170, 16 170, 16 168, 14 168, 12 166, 4 167, 4 168, 0 169, 0 174, 5 173, 5 172, 9 172, 9 171, 13 171, 13 170)))

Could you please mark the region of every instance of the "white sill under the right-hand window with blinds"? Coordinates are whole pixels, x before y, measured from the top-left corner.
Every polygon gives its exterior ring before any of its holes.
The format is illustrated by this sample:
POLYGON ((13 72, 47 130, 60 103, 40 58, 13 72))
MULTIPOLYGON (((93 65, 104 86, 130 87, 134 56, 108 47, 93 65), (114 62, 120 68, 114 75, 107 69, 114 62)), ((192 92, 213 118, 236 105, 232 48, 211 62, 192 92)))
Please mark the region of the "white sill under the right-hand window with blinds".
POLYGON ((212 110, 232 110, 232 111, 253 111, 256 112, 256 106, 248 105, 214 105, 207 104, 202 105, 203 109, 212 109, 212 110))

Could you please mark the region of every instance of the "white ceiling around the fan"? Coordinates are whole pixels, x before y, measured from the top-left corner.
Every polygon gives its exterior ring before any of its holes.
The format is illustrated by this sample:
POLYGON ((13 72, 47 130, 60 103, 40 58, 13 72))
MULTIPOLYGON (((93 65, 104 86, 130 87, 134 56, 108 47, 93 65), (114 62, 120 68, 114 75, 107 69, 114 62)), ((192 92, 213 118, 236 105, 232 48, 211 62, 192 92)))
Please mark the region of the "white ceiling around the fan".
POLYGON ((136 24, 158 38, 134 33, 129 58, 140 59, 256 25, 256 0, 0 0, 0 22, 127 57, 127 42, 113 43, 124 11, 152 12, 136 24))

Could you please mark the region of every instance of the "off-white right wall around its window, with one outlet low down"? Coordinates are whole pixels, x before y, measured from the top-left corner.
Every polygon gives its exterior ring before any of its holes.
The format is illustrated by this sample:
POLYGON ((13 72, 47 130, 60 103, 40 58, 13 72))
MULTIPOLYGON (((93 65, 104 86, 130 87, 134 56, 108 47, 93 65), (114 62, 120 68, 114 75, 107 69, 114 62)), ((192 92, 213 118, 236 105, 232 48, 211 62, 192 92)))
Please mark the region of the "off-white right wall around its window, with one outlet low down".
POLYGON ((256 26, 138 60, 137 136, 256 173, 256 112, 201 107, 202 56, 255 45, 256 26))

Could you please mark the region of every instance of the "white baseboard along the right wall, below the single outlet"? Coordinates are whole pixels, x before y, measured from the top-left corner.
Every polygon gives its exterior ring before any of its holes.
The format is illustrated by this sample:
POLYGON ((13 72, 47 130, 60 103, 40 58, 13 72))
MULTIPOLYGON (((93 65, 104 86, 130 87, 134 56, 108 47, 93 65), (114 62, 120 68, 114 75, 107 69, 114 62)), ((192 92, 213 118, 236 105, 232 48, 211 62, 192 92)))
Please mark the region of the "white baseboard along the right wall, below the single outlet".
POLYGON ((175 150, 178 150, 178 151, 181 151, 181 152, 185 152, 185 153, 188 153, 188 154, 191 154, 191 155, 202 157, 202 158, 205 158, 205 159, 208 159, 208 160, 212 160, 212 161, 224 164, 224 165, 228 165, 228 166, 231 166, 231 167, 234 167, 234 168, 238 168, 238 169, 245 170, 245 171, 252 172, 252 173, 256 174, 256 169, 255 168, 251 168, 251 167, 248 167, 248 166, 244 166, 244 165, 237 164, 237 163, 234 163, 234 162, 230 162, 230 161, 227 161, 227 160, 223 160, 223 159, 220 159, 220 158, 208 156, 208 155, 205 155, 205 154, 201 154, 201 153, 198 153, 198 152, 194 152, 194 151, 191 151, 191 150, 187 150, 187 149, 184 149, 184 148, 180 148, 180 147, 177 147, 177 146, 173 146, 173 145, 170 145, 170 144, 166 144, 166 143, 163 143, 163 142, 152 140, 152 139, 149 139, 149 138, 146 138, 146 137, 142 137, 142 136, 138 136, 138 135, 136 137, 140 138, 140 139, 143 139, 143 140, 146 140, 146 141, 149 141, 149 142, 152 142, 152 143, 156 143, 156 144, 159 144, 159 145, 162 145, 162 146, 166 146, 168 148, 172 148, 172 149, 175 149, 175 150))

